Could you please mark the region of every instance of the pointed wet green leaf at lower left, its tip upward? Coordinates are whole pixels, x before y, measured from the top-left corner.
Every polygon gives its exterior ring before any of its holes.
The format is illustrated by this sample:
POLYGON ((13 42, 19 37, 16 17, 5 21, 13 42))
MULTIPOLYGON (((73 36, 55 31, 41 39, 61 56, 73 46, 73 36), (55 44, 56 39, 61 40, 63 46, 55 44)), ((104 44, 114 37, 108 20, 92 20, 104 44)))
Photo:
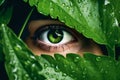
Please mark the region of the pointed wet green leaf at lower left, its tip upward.
POLYGON ((9 28, 4 24, 0 26, 3 36, 3 51, 5 55, 5 67, 10 80, 36 80, 44 79, 42 75, 35 76, 37 69, 41 70, 38 61, 26 48, 25 44, 17 39, 9 28), (23 46, 24 45, 24 46, 23 46), (34 66, 36 66, 34 68, 34 66), (29 71, 29 70, 32 70, 29 71), (12 72, 12 74, 11 74, 12 72), (34 73, 34 74, 33 74, 34 73))

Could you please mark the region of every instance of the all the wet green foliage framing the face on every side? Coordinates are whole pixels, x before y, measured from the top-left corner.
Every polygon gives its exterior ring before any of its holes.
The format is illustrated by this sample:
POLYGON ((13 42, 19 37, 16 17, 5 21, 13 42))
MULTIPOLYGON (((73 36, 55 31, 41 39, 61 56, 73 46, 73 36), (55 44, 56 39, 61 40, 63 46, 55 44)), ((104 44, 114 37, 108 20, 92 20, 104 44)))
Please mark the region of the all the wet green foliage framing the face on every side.
POLYGON ((114 59, 115 46, 120 46, 118 0, 24 1, 36 6, 40 13, 59 18, 87 38, 106 45, 109 56, 91 53, 83 57, 72 53, 66 57, 35 56, 7 27, 12 8, 4 8, 5 0, 0 0, 0 56, 5 56, 0 57, 0 62, 5 61, 9 80, 120 80, 120 61, 114 59))

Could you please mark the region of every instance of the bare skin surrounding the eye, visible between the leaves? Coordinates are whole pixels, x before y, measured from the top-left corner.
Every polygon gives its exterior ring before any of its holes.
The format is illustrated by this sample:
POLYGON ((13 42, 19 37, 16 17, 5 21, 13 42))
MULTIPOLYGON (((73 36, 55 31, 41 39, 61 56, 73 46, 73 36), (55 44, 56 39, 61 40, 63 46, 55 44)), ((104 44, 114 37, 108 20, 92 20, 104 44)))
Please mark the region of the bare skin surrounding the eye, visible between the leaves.
POLYGON ((101 49, 95 42, 89 40, 86 43, 84 39, 85 37, 81 36, 81 34, 73 29, 71 29, 71 33, 74 34, 73 36, 76 37, 77 41, 65 43, 63 44, 64 46, 57 45, 58 48, 56 48, 54 45, 49 48, 47 46, 49 46, 50 44, 38 41, 40 43, 43 43, 40 46, 40 44, 36 43, 33 39, 31 39, 31 37, 34 36, 34 33, 37 29, 46 24, 64 25, 63 23, 55 20, 34 20, 29 23, 28 29, 30 34, 26 38, 25 42, 35 55, 48 54, 53 56, 54 53, 59 53, 65 56, 67 53, 76 53, 82 56, 84 52, 92 52, 95 55, 101 55, 101 49))

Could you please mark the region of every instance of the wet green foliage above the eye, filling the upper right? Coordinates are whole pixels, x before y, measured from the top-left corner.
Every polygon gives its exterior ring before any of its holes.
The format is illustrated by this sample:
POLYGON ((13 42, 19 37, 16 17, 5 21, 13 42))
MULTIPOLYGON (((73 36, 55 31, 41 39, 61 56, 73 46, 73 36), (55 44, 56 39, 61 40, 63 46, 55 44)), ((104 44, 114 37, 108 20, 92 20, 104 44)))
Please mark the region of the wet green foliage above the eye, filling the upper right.
POLYGON ((108 54, 115 56, 120 45, 119 0, 28 0, 40 13, 59 18, 87 38, 106 45, 108 54), (116 34, 117 33, 117 34, 116 34))

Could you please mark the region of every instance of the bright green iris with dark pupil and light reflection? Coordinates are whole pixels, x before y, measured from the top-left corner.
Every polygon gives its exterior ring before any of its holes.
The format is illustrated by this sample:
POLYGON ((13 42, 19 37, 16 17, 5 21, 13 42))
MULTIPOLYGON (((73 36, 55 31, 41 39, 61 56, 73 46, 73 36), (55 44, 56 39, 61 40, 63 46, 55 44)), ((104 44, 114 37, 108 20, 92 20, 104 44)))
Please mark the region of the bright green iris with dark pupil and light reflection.
POLYGON ((57 29, 50 30, 47 37, 51 43, 59 43, 63 39, 63 31, 57 29))

